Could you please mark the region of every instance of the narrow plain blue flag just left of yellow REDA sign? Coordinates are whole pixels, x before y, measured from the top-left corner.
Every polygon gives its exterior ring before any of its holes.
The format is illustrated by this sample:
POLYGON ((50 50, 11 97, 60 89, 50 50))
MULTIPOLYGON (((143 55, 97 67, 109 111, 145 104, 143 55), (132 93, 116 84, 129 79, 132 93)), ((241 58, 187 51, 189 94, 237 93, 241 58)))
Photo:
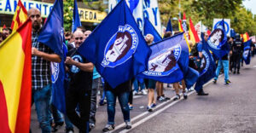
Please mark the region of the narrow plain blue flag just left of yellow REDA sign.
POLYGON ((72 32, 75 32, 77 27, 82 26, 80 17, 79 17, 79 9, 77 0, 73 1, 73 21, 72 21, 72 32))

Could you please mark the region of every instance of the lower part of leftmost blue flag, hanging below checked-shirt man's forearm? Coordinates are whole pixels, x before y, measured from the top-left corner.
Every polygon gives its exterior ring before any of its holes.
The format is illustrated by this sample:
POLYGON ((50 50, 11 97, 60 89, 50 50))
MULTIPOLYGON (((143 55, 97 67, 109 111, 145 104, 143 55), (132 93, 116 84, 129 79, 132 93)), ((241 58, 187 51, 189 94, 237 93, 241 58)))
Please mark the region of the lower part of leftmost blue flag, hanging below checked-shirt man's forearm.
POLYGON ((63 60, 61 63, 51 62, 51 79, 52 79, 52 103, 53 105, 61 111, 61 113, 66 113, 66 87, 64 86, 65 73, 65 63, 67 54, 67 46, 63 43, 63 60))

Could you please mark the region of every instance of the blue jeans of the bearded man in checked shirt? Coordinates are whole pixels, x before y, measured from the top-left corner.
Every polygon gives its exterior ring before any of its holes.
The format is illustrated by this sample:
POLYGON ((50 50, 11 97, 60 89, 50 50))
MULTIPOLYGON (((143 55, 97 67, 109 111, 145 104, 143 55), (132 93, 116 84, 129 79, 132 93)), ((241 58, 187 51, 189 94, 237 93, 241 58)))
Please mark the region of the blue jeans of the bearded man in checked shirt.
POLYGON ((49 123, 49 101, 51 96, 51 84, 44 86, 41 90, 32 90, 32 103, 35 102, 38 114, 38 122, 42 133, 50 133, 51 126, 49 123))

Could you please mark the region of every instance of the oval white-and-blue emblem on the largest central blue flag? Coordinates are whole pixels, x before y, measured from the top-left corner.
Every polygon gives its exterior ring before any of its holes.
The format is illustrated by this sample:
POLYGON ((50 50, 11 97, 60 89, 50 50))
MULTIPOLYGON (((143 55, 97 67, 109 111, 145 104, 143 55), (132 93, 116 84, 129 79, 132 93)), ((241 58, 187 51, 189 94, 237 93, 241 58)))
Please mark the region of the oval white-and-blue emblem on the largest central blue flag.
POLYGON ((108 41, 102 67, 116 67, 129 60, 136 51, 138 44, 137 32, 130 26, 119 26, 118 32, 108 41))

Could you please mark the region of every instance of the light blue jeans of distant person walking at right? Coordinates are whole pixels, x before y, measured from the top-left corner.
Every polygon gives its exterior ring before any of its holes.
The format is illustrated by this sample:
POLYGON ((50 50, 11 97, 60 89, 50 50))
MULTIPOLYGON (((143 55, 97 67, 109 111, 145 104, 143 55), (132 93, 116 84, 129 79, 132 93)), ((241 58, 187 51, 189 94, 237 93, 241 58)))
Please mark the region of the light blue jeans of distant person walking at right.
POLYGON ((224 79, 225 79, 225 82, 229 80, 229 61, 228 60, 219 60, 218 61, 218 67, 216 69, 216 76, 214 79, 218 79, 218 75, 219 75, 219 72, 221 70, 222 67, 224 67, 224 79))

